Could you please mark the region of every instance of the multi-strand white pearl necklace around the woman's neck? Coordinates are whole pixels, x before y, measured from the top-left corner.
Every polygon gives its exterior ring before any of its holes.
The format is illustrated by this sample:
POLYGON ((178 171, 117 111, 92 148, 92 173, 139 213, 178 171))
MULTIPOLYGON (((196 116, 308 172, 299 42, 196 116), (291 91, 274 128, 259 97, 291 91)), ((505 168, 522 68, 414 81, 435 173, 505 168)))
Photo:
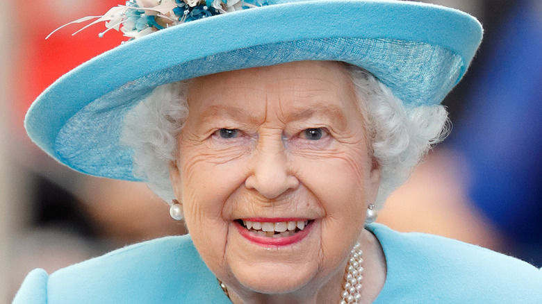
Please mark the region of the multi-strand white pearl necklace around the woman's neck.
MULTIPOLYGON (((361 280, 363 280, 363 276, 361 275, 363 273, 363 267, 361 267, 363 258, 361 255, 363 255, 361 245, 356 243, 350 251, 350 259, 348 260, 345 273, 345 291, 341 294, 342 298, 339 304, 355 304, 361 300, 361 294, 359 294, 361 292, 361 280)), ((221 280, 218 280, 218 282, 224 294, 229 298, 226 285, 221 280)))

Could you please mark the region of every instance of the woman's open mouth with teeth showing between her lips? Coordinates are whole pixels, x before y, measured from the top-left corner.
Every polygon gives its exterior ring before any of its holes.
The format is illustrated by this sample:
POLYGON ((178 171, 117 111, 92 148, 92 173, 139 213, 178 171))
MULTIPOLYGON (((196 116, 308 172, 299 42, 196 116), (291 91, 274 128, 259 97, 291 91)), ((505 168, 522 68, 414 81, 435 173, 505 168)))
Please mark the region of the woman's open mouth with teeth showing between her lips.
POLYGON ((261 237, 292 237, 301 232, 314 220, 300 221, 249 221, 238 219, 236 222, 254 235, 261 237))

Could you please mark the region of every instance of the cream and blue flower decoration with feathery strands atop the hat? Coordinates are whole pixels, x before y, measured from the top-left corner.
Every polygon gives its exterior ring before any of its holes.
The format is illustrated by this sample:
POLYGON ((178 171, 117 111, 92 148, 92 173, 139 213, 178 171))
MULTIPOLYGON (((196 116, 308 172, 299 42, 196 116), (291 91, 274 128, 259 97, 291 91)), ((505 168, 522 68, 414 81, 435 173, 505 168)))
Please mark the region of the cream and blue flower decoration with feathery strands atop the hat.
POLYGON ((105 22, 107 29, 101 32, 99 37, 110 30, 115 30, 122 31, 126 37, 133 40, 184 22, 266 4, 265 0, 256 3, 247 3, 243 0, 129 0, 124 6, 111 8, 103 16, 83 17, 64 24, 56 28, 46 39, 69 24, 95 19, 72 35, 99 22, 105 22))

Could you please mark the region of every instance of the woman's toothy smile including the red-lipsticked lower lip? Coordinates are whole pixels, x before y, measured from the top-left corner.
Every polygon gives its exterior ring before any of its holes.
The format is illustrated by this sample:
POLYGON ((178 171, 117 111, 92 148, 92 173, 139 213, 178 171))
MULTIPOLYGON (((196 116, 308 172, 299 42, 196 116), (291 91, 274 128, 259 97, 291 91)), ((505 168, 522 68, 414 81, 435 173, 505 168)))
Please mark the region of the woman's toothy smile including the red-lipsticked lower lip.
POLYGON ((238 219, 234 221, 245 239, 263 246, 287 246, 309 234, 313 219, 238 219))

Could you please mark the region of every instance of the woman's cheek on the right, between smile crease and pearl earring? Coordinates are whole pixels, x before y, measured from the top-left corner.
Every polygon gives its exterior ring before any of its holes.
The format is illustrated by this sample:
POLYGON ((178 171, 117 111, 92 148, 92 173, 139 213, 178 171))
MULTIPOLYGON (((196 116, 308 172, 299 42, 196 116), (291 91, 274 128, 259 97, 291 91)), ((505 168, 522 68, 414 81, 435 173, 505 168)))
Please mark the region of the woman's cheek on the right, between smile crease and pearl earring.
POLYGON ((326 261, 322 267, 340 264, 363 230, 370 166, 359 155, 363 154, 340 153, 300 166, 302 183, 325 212, 320 222, 321 252, 326 261))

